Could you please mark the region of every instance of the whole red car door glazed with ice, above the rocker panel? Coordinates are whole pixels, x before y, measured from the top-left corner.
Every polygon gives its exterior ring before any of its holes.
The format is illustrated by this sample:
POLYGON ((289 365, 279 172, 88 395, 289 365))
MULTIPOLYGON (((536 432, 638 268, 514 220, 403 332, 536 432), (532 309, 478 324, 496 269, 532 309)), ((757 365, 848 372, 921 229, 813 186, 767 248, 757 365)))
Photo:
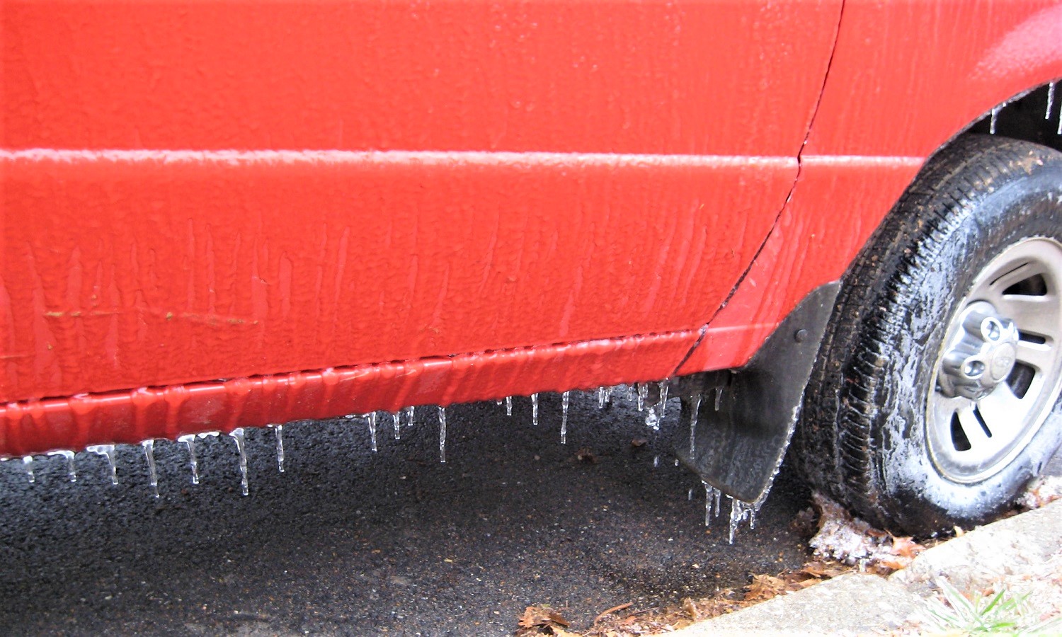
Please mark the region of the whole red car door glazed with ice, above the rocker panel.
POLYGON ((839 13, 6 0, 0 399, 691 344, 794 184, 839 13))

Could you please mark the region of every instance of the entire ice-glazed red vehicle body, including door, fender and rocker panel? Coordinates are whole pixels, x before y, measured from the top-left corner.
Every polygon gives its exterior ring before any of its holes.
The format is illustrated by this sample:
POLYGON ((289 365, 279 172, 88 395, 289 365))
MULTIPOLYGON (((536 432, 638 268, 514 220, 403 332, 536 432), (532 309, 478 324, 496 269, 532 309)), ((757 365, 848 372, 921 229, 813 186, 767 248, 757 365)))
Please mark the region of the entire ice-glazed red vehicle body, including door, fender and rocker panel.
POLYGON ((1062 76, 990 0, 4 0, 0 455, 744 365, 1062 76))

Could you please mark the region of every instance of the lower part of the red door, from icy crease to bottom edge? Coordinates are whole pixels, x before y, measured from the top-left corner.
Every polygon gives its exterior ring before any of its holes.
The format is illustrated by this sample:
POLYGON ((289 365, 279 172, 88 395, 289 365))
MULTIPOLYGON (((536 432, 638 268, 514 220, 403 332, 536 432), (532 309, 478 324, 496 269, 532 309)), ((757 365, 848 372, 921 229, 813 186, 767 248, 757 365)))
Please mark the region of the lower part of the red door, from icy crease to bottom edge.
POLYGON ((498 153, 2 160, 3 400, 696 329, 795 173, 498 153))

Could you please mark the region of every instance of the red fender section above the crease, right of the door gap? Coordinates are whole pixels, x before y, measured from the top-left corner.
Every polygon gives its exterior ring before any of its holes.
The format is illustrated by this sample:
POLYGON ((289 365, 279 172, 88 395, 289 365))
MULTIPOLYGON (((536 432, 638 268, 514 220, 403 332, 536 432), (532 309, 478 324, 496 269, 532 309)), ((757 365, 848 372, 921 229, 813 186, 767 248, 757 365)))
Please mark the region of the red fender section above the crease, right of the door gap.
POLYGON ((1058 0, 846 0, 805 152, 925 157, 1057 78, 1058 0))

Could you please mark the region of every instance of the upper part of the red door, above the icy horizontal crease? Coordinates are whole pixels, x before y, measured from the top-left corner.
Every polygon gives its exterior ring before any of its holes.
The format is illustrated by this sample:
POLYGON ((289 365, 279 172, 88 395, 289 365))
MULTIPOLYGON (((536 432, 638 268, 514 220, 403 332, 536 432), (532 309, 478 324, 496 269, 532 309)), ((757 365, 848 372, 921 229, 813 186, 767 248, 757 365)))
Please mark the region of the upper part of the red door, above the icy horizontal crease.
POLYGON ((4 0, 6 149, 795 156, 840 0, 4 0))

